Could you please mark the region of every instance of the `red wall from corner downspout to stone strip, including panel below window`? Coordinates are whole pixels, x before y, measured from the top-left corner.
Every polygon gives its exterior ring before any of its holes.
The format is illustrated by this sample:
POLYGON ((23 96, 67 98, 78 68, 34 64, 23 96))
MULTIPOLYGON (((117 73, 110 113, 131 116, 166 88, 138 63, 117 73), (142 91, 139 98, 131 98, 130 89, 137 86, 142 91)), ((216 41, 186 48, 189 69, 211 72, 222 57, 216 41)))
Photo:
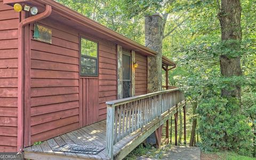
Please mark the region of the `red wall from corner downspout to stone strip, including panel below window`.
POLYGON ((83 33, 50 19, 38 23, 52 29, 52 44, 31 36, 30 144, 106 119, 105 103, 117 97, 115 44, 96 39, 99 77, 86 78, 79 76, 83 33))

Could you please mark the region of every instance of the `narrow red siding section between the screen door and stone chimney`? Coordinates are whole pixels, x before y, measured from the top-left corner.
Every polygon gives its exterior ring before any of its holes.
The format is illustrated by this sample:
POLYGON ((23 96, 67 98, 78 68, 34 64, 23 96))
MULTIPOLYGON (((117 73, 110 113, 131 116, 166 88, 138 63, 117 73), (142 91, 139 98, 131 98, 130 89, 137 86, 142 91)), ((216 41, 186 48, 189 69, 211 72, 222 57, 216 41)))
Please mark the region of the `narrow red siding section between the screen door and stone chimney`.
POLYGON ((138 68, 135 69, 135 95, 147 94, 147 57, 135 53, 138 68))

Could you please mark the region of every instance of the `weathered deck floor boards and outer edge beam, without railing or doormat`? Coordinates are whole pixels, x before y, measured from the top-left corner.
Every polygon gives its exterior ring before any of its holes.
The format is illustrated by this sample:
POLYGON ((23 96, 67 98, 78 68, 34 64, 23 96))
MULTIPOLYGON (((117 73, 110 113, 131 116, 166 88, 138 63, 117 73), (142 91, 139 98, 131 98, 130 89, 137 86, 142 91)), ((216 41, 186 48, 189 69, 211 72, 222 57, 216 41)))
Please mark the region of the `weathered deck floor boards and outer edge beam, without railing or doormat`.
MULTIPOLYGON (((177 109, 166 111, 166 113, 161 116, 161 119, 156 118, 153 121, 150 121, 147 125, 142 126, 141 129, 134 131, 130 135, 127 135, 122 140, 117 142, 113 146, 114 158, 122 159, 127 154, 129 154, 150 134, 154 133, 154 131, 162 125, 161 122, 165 122, 168 118, 170 118, 170 116, 174 115, 174 113, 177 112, 185 104, 186 102, 183 102, 181 103, 181 105, 178 106, 177 109)), ((106 146, 106 120, 43 141, 41 145, 26 147, 24 149, 24 156, 26 159, 110 159, 106 155, 106 148, 97 155, 53 151, 55 148, 63 146, 65 144, 106 146)))

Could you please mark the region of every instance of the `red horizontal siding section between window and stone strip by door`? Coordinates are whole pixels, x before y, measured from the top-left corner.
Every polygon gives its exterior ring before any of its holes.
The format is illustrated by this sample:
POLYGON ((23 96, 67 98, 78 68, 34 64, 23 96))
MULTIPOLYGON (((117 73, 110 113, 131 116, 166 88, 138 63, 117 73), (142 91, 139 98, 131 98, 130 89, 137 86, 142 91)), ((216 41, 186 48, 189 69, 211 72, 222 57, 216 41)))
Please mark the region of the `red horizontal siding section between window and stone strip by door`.
POLYGON ((117 99, 117 46, 99 42, 99 117, 107 118, 106 101, 117 99))

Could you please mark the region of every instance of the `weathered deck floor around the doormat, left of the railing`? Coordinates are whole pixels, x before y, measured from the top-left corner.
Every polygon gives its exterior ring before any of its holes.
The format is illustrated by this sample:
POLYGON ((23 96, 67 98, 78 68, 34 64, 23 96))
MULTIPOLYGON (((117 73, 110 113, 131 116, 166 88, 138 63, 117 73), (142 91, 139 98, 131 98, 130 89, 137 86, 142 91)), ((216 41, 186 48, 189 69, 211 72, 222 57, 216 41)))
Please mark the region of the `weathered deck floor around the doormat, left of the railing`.
MULTIPOLYGON (((58 137, 43 141, 41 145, 33 145, 24 149, 27 159, 109 159, 106 149, 98 155, 75 154, 53 149, 66 144, 106 146, 106 120, 94 123, 81 129, 62 134, 58 137)), ((117 150, 116 150, 117 151, 117 150)))

